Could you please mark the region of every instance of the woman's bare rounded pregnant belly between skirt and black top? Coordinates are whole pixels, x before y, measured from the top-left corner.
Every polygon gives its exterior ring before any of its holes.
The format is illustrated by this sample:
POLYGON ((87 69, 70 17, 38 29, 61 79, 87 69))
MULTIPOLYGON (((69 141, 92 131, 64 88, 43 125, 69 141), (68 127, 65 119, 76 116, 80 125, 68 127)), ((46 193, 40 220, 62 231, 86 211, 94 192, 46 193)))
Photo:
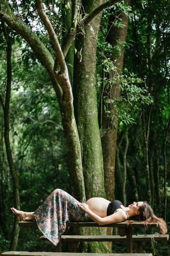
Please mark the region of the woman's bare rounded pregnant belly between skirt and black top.
POLYGON ((107 216, 107 207, 109 203, 110 201, 102 197, 92 197, 86 201, 89 209, 102 218, 107 216))

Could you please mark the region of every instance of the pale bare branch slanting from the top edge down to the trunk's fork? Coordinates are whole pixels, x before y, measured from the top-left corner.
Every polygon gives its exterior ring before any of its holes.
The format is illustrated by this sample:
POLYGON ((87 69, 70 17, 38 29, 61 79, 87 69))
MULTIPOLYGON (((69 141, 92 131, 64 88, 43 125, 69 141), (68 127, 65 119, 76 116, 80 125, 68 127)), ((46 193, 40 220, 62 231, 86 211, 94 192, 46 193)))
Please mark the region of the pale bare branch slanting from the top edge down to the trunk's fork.
POLYGON ((66 66, 66 62, 61 50, 61 46, 60 43, 58 42, 58 38, 56 36, 56 33, 52 27, 51 22, 49 21, 46 13, 44 12, 43 8, 42 8, 42 0, 36 0, 37 3, 37 12, 39 14, 39 17, 41 18, 44 26, 46 27, 49 37, 52 41, 57 59, 58 59, 58 63, 60 65, 60 69, 62 73, 66 73, 67 72, 67 66, 66 66))

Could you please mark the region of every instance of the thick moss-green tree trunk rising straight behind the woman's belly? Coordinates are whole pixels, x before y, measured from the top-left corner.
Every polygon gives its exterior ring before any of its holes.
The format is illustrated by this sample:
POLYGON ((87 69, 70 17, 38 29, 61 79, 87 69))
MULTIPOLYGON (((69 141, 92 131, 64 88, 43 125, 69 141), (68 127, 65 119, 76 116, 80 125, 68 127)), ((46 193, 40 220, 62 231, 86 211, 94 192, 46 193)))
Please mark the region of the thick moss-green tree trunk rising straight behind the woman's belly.
MULTIPOLYGON (((82 1, 85 13, 91 13, 104 1, 82 1)), ((96 44, 101 13, 84 28, 75 41, 74 109, 81 144, 86 198, 105 197, 103 157, 96 104, 96 44)))

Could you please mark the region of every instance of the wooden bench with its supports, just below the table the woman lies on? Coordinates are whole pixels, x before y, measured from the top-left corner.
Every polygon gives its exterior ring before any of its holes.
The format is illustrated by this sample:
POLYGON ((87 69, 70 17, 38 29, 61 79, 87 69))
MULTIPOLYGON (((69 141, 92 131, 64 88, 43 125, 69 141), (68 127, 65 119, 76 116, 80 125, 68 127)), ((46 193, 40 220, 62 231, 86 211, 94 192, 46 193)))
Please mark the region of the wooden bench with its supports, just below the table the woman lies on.
MULTIPOLYGON (((40 237, 43 241, 48 239, 43 235, 40 237)), ((132 235, 133 248, 137 249, 138 253, 142 253, 142 242, 144 241, 168 241, 169 235, 132 235)), ((119 235, 61 235, 62 242, 77 242, 77 246, 73 244, 72 248, 78 248, 79 242, 126 242, 126 236, 119 235)))

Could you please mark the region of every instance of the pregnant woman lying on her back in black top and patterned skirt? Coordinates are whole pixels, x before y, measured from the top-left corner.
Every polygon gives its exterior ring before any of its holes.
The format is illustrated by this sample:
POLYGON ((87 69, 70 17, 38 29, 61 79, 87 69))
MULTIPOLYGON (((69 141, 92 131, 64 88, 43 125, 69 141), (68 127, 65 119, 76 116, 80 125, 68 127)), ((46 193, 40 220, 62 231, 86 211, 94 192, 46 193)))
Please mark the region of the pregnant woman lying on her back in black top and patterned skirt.
POLYGON ((24 212, 11 208, 20 220, 36 220, 38 228, 57 245, 60 236, 66 229, 68 221, 95 221, 99 225, 117 223, 133 218, 145 223, 157 222, 162 234, 167 232, 163 219, 155 216, 147 202, 133 202, 128 207, 118 200, 112 202, 101 197, 90 198, 86 203, 80 203, 62 189, 55 189, 49 197, 34 212, 24 212))

